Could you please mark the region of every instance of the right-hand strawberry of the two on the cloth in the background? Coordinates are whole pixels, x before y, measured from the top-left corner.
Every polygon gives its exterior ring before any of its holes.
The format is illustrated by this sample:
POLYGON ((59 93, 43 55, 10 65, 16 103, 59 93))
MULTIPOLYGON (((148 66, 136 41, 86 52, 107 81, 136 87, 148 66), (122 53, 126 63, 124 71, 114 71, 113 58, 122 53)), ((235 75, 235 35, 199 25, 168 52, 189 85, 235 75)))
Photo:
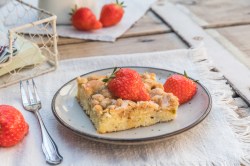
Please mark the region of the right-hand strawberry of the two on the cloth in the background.
POLYGON ((110 3, 102 7, 100 22, 103 27, 109 27, 118 24, 124 14, 123 2, 110 3))

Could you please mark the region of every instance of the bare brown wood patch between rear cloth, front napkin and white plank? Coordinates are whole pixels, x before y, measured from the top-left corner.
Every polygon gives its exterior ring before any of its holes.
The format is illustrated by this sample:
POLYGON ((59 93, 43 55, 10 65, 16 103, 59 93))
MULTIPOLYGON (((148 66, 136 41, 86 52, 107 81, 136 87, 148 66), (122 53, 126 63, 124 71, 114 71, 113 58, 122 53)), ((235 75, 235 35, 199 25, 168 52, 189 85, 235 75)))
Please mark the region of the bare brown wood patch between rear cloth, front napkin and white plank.
POLYGON ((186 44, 152 11, 148 11, 114 43, 69 38, 59 38, 58 41, 61 59, 164 51, 185 47, 186 44))

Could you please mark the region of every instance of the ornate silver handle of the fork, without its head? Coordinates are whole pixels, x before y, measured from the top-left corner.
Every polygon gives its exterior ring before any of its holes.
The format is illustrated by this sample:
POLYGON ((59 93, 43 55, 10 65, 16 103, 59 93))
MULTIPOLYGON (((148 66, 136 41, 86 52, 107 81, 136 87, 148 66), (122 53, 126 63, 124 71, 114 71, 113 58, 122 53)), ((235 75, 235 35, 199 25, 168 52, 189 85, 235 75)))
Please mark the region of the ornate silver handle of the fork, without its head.
POLYGON ((47 163, 53 165, 60 164, 63 160, 63 157, 60 155, 55 142, 53 141, 48 130, 46 129, 39 111, 35 111, 35 114, 41 127, 42 149, 46 157, 46 161, 47 163))

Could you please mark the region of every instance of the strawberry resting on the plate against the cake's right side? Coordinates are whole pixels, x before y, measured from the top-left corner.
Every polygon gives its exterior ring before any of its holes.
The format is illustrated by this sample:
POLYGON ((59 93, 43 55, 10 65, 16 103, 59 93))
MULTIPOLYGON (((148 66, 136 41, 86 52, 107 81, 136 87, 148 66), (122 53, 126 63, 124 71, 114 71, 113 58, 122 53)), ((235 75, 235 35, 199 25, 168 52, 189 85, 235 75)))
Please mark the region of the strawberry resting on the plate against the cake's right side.
POLYGON ((179 98, 179 103, 183 104, 193 98, 197 86, 193 80, 187 77, 185 72, 184 76, 179 74, 170 76, 164 84, 164 90, 167 93, 173 93, 179 98))

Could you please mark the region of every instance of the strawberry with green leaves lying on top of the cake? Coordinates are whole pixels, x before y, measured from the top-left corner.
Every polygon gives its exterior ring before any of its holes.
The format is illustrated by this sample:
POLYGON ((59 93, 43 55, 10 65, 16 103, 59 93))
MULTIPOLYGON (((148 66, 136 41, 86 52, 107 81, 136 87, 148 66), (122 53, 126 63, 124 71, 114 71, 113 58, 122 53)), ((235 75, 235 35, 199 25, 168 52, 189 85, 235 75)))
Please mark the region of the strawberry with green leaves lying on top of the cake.
MULTIPOLYGON (((123 68, 111 75, 108 82, 109 91, 115 96, 124 100, 148 101, 150 100, 140 74, 135 70, 123 68)), ((106 80, 107 81, 107 80, 106 80)))

